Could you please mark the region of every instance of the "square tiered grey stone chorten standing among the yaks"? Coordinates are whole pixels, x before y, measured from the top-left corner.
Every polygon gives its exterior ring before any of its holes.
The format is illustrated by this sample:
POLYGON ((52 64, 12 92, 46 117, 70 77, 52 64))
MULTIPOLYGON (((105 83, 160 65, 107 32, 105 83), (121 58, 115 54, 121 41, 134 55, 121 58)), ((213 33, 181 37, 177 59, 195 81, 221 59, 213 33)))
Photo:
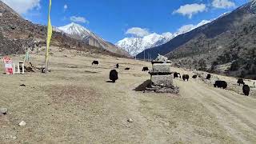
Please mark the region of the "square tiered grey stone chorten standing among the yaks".
POLYGON ((178 86, 173 85, 173 77, 170 70, 171 61, 168 58, 158 54, 158 58, 152 61, 153 69, 150 70, 150 86, 146 90, 156 93, 178 94, 178 86))

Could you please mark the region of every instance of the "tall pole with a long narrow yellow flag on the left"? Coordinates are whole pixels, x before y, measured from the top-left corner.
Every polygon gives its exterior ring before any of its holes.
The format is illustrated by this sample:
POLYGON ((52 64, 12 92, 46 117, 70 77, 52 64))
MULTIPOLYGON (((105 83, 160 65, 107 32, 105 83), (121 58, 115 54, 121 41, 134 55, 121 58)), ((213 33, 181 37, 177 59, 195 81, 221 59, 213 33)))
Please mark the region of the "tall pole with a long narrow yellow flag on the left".
POLYGON ((50 8, 51 8, 51 0, 49 0, 49 11, 48 11, 48 26, 47 26, 47 39, 46 39, 46 60, 45 60, 45 73, 48 72, 49 66, 49 47, 50 47, 50 38, 52 35, 52 26, 50 22, 50 8))

